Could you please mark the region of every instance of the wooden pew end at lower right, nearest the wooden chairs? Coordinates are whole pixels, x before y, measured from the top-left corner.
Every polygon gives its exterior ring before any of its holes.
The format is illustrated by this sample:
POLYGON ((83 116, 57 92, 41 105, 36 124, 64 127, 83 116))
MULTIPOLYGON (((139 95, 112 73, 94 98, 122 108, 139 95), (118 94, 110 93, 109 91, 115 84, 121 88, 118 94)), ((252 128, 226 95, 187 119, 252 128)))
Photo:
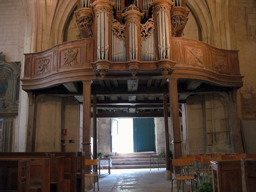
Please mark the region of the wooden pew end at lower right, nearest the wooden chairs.
POLYGON ((214 192, 242 192, 241 161, 211 161, 214 192))

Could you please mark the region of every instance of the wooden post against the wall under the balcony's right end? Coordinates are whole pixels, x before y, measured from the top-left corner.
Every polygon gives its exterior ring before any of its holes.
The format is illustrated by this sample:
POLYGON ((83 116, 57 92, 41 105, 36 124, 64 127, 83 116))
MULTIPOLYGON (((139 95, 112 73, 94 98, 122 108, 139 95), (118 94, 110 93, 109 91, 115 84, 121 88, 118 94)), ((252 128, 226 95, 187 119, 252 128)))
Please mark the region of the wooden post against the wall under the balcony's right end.
POLYGON ((229 121, 230 121, 230 142, 233 153, 241 153, 241 133, 238 126, 238 114, 236 104, 237 90, 229 92, 229 121))

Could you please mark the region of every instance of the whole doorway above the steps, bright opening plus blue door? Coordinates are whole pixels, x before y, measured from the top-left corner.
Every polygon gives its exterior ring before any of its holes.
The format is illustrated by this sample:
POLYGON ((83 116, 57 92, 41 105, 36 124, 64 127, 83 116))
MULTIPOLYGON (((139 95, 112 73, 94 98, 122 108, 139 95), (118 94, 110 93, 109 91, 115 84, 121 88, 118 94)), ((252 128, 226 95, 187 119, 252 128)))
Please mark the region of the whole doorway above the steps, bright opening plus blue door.
POLYGON ((154 118, 111 118, 111 151, 155 151, 154 118))

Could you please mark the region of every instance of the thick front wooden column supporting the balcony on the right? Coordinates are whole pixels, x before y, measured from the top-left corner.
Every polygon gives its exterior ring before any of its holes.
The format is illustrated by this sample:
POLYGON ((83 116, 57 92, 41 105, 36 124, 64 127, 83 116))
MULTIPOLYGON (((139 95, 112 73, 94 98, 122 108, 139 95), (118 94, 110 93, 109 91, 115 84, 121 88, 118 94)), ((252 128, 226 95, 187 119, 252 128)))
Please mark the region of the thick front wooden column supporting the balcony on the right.
POLYGON ((173 159, 179 159, 181 157, 181 128, 179 124, 177 79, 169 79, 169 99, 172 120, 172 153, 173 159))

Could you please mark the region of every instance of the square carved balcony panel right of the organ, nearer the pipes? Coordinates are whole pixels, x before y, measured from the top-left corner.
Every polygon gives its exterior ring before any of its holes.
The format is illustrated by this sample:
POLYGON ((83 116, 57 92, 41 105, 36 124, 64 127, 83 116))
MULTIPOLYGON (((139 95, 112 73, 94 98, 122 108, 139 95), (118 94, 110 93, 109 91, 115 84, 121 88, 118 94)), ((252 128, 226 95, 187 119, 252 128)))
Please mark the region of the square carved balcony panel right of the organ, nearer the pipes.
POLYGON ((203 49, 185 46, 185 62, 188 64, 203 65, 203 49))

